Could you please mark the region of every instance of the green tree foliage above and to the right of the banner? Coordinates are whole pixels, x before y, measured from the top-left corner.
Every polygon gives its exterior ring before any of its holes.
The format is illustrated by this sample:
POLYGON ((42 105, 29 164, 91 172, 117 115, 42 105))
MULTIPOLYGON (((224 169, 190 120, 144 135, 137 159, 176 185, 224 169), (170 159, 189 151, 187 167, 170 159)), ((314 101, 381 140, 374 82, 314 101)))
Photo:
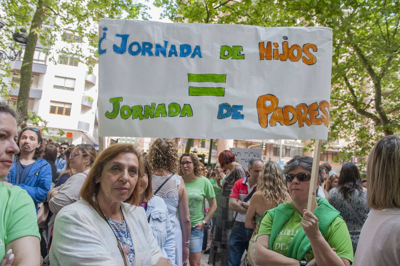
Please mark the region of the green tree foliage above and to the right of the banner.
POLYGON ((333 29, 329 143, 340 158, 367 155, 383 135, 400 131, 400 1, 155 0, 174 22, 333 29))

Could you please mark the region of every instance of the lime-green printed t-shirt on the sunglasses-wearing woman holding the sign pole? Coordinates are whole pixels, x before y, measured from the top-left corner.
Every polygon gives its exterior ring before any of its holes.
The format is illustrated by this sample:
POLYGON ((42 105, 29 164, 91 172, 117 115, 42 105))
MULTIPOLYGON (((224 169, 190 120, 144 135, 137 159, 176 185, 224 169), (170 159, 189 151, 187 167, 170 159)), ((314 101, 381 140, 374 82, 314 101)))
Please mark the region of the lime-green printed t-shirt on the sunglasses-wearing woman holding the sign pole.
MULTIPOLYGON (((272 250, 278 252, 286 256, 286 252, 288 250, 289 244, 292 241, 292 238, 297 234, 300 230, 301 225, 300 222, 302 220, 302 215, 296 208, 294 208, 294 212, 292 217, 285 222, 276 235, 276 238, 272 244, 272 250)), ((258 236, 263 234, 271 234, 272 228, 272 217, 267 212, 264 218, 262 219, 260 229, 258 230, 258 236)), ((335 248, 336 254, 340 258, 346 258, 353 261, 353 246, 350 238, 349 231, 346 226, 346 222, 339 216, 333 220, 333 222, 328 226, 326 230, 326 234, 324 236, 326 242, 328 242, 331 248, 335 248)), ((303 260, 309 262, 314 258, 314 252, 310 249, 306 254, 304 254, 303 260)))

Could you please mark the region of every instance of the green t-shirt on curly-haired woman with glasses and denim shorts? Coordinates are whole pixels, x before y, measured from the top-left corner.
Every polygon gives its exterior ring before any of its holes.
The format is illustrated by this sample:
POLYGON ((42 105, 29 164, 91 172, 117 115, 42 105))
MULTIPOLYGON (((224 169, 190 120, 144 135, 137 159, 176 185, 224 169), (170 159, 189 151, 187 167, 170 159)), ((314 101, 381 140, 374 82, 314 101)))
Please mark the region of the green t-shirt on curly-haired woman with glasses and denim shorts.
POLYGON ((189 213, 192 226, 204 220, 204 199, 215 197, 214 189, 207 177, 201 176, 193 182, 186 183, 189 197, 189 213))

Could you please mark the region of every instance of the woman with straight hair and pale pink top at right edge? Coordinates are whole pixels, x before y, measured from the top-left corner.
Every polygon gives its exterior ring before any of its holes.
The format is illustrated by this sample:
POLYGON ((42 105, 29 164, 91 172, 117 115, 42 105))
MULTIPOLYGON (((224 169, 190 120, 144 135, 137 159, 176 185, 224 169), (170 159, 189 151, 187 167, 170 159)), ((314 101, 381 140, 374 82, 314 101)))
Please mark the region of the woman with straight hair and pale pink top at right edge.
POLYGON ((372 148, 367 163, 367 205, 353 265, 400 265, 400 134, 372 148))

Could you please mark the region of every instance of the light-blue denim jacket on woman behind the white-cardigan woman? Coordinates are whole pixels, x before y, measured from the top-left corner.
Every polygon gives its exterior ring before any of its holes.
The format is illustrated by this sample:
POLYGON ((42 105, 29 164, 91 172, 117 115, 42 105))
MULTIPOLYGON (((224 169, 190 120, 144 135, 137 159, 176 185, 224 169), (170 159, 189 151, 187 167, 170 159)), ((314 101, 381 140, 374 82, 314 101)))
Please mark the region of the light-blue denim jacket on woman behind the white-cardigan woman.
POLYGON ((168 216, 167 205, 160 197, 154 196, 147 202, 146 218, 150 216, 150 227, 164 256, 173 266, 175 262, 175 233, 168 216))

